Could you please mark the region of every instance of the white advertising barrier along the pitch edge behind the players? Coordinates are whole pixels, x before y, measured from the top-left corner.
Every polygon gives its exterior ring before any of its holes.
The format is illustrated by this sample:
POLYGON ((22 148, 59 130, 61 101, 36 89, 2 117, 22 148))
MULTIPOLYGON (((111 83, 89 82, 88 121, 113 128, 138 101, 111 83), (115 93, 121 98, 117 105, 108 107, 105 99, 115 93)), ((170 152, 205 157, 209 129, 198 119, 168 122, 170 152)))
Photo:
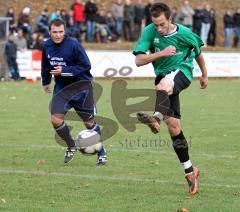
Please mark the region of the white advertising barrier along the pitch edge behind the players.
MULTIPOLYGON (((151 64, 137 67, 131 51, 87 51, 94 77, 154 77, 151 64)), ((209 77, 240 77, 240 53, 203 52, 209 77)), ((40 77, 41 51, 18 52, 21 77, 40 77)), ((194 62, 194 77, 201 75, 194 62)))

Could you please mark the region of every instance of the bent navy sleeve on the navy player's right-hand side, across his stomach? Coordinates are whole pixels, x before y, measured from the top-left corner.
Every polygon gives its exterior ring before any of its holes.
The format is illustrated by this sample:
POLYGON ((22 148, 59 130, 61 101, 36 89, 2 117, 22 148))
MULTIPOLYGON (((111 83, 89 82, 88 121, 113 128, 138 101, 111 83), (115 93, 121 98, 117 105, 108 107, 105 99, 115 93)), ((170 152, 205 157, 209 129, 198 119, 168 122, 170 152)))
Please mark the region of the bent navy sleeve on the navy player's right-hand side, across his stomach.
POLYGON ((73 47, 73 58, 75 61, 73 66, 62 66, 62 76, 69 73, 76 76, 91 69, 89 58, 78 42, 73 47))

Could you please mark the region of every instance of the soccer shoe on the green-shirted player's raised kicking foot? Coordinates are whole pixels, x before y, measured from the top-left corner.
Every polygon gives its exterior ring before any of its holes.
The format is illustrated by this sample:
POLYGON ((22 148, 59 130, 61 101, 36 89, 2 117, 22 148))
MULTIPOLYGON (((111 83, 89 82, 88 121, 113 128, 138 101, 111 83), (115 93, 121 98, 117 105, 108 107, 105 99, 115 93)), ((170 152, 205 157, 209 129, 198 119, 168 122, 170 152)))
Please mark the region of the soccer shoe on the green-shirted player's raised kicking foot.
POLYGON ((159 133, 159 131, 160 131, 160 121, 155 116, 149 116, 145 112, 138 112, 137 113, 137 119, 141 123, 148 125, 150 127, 151 131, 154 134, 159 133))

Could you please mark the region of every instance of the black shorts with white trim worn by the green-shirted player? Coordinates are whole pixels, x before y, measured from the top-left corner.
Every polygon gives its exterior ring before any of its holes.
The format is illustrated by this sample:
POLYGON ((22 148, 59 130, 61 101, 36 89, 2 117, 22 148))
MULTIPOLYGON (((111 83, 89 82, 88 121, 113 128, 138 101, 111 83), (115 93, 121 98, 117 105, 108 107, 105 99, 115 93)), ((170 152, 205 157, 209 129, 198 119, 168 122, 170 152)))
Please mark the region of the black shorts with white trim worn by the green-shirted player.
MULTIPOLYGON (((186 89, 191 82, 188 80, 188 78, 179 70, 174 70, 171 73, 177 72, 176 75, 173 77, 173 94, 169 95, 169 100, 170 100, 170 109, 173 110, 173 117, 180 119, 181 118, 181 113, 180 113, 180 100, 179 100, 179 93, 186 89)), ((157 85, 164 77, 168 77, 168 74, 160 74, 156 77, 155 79, 155 85, 157 85)))

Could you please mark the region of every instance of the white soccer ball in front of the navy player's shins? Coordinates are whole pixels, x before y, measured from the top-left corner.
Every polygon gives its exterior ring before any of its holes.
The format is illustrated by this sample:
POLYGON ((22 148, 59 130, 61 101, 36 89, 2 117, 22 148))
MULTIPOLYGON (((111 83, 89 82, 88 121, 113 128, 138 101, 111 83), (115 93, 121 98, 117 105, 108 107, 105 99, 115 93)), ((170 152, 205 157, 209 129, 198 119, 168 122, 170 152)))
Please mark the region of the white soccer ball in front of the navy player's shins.
POLYGON ((95 155, 102 148, 101 135, 93 130, 80 131, 77 135, 76 147, 85 155, 95 155))

